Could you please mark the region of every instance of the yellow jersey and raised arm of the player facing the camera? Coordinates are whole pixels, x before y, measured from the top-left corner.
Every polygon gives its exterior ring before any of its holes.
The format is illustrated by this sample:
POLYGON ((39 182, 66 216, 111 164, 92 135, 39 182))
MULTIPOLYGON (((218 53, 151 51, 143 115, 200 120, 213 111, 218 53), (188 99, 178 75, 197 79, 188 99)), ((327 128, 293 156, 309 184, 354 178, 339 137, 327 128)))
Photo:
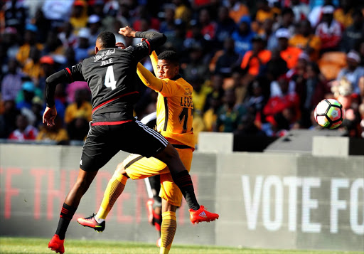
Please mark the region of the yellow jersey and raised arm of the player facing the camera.
MULTIPOLYGON (((151 53, 155 73, 157 62, 156 53, 151 53)), ((192 85, 180 75, 173 79, 156 78, 141 63, 137 65, 137 73, 144 85, 159 92, 156 105, 157 132, 171 144, 185 144, 194 148, 192 85)))

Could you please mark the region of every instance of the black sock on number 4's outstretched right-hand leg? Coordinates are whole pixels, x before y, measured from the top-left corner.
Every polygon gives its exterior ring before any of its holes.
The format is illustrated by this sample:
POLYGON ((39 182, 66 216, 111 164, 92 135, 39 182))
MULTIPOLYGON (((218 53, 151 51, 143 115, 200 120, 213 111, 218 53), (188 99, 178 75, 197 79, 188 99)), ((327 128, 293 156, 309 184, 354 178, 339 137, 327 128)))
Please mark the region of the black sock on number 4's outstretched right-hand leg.
POLYGON ((197 202, 195 190, 193 189, 193 183, 191 175, 187 170, 183 170, 177 174, 171 174, 173 181, 177 184, 181 190, 182 195, 185 197, 188 207, 193 210, 198 210, 200 205, 197 202))

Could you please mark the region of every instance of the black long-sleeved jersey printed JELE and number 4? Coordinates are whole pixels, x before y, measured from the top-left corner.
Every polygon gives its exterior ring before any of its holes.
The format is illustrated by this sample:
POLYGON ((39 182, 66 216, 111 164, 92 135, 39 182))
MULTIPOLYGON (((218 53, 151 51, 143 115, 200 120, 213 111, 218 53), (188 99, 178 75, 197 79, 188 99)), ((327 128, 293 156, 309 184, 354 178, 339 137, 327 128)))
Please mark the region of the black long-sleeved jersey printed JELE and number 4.
MULTIPOLYGON (((137 37, 146 38, 135 46, 125 49, 105 48, 82 63, 65 68, 68 82, 87 81, 92 93, 92 122, 119 122, 132 120, 133 105, 137 101, 137 63, 166 41, 162 33, 137 32, 137 37)), ((55 73, 47 79, 46 98, 54 105, 55 86, 62 80, 55 73)))

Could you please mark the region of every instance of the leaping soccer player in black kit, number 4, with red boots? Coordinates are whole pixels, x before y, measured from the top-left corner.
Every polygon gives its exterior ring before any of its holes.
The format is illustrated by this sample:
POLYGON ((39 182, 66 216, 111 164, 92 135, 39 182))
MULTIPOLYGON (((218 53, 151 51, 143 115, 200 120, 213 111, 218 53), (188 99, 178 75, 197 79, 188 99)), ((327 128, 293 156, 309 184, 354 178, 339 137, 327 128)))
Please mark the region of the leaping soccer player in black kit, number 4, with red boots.
POLYGON ((73 218, 82 196, 85 194, 97 171, 107 164, 120 150, 144 157, 155 157, 166 163, 173 181, 200 221, 214 221, 217 213, 200 207, 193 189, 191 176, 183 166, 176 149, 158 132, 134 119, 133 105, 137 100, 137 63, 166 41, 163 33, 156 31, 137 32, 129 26, 119 29, 127 37, 144 38, 136 46, 120 49, 115 36, 103 31, 97 36, 96 55, 82 63, 65 68, 46 80, 45 100, 47 107, 43 123, 55 125, 57 115, 54 94, 58 83, 87 81, 92 93, 92 122, 82 148, 80 171, 75 185, 65 198, 55 235, 48 248, 64 253, 64 239, 70 220, 73 218))

